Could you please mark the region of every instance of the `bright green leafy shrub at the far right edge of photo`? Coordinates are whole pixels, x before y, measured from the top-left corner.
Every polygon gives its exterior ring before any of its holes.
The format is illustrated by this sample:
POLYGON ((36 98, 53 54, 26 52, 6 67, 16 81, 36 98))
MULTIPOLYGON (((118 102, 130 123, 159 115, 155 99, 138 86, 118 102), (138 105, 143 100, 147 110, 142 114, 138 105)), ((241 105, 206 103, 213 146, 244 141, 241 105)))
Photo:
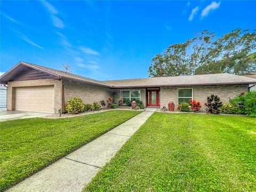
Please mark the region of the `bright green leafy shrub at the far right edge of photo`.
POLYGON ((230 103, 238 108, 238 114, 256 117, 256 91, 243 92, 234 99, 231 99, 230 103))

